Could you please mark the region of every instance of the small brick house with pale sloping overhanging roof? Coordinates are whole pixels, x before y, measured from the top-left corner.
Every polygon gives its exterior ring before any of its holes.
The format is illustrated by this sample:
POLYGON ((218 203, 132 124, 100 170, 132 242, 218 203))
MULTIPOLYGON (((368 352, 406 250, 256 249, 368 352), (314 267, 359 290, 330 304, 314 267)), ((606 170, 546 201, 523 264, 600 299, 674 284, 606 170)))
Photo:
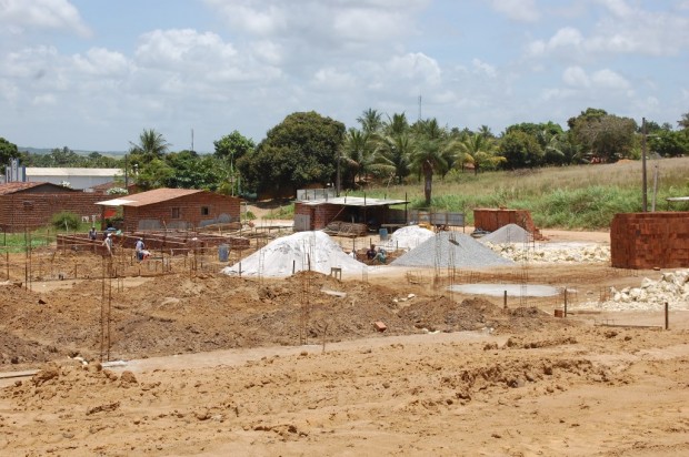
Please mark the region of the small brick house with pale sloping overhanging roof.
POLYGON ((203 227, 238 222, 241 199, 196 189, 156 189, 118 199, 100 201, 103 219, 108 211, 121 209, 126 232, 142 230, 203 227))

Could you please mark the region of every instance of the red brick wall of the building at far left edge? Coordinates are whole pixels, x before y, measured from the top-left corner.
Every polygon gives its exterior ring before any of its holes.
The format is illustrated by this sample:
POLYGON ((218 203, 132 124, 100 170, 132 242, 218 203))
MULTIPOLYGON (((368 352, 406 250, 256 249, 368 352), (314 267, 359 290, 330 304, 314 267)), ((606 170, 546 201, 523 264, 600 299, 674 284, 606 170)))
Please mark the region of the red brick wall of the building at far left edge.
POLYGON ((96 202, 102 194, 89 192, 24 193, 0 195, 0 228, 6 232, 21 232, 50 223, 53 214, 61 211, 80 216, 100 216, 101 207, 96 202))

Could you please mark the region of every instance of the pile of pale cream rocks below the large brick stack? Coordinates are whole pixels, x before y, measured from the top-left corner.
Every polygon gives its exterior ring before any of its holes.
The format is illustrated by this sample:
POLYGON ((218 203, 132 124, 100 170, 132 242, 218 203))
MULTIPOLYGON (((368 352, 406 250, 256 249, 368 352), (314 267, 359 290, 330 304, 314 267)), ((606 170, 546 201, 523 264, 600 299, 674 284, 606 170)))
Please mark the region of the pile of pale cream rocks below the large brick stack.
POLYGON ((640 287, 617 291, 610 287, 610 299, 575 305, 578 309, 662 311, 666 302, 675 311, 689 311, 689 270, 663 273, 660 280, 645 277, 640 287))

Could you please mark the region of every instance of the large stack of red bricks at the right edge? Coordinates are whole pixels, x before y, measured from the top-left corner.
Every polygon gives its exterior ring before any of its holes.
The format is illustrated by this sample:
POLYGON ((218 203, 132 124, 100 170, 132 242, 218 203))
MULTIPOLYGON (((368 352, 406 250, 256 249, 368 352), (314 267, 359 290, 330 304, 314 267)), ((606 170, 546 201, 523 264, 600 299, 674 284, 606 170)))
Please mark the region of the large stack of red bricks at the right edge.
POLYGON ((610 262, 632 270, 689 266, 689 212, 616 214, 610 262))

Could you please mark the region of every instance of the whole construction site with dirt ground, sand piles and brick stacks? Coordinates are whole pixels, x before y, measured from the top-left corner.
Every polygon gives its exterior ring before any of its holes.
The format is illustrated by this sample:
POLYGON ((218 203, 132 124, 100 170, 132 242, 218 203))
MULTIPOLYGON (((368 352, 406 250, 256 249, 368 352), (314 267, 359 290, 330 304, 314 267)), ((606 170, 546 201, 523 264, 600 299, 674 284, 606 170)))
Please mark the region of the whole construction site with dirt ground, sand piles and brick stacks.
POLYGON ((1 245, 0 455, 689 453, 678 236, 336 203, 1 245))

